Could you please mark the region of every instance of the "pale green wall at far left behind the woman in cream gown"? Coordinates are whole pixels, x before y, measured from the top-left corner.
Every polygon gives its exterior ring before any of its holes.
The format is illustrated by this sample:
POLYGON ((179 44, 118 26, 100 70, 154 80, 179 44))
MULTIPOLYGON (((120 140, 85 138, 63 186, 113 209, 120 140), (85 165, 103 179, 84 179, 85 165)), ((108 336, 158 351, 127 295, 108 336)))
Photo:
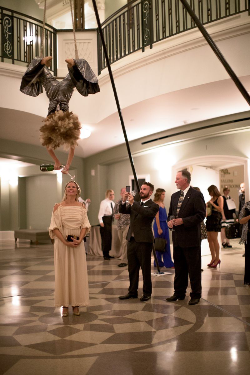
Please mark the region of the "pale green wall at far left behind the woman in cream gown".
MULTIPOLYGON (((67 154, 60 151, 57 151, 57 155, 61 160, 67 158, 67 154)), ((35 164, 18 168, 19 183, 16 187, 10 186, 5 176, 1 176, 0 230, 25 229, 30 226, 33 229, 46 229, 52 208, 61 201, 64 186, 70 177, 62 175, 62 183, 59 184, 56 175, 40 172, 41 163, 51 163, 46 149, 41 146, 0 139, 0 157, 35 164)), ((84 160, 75 156, 70 174, 76 176, 76 181, 84 190, 83 173, 84 160)))

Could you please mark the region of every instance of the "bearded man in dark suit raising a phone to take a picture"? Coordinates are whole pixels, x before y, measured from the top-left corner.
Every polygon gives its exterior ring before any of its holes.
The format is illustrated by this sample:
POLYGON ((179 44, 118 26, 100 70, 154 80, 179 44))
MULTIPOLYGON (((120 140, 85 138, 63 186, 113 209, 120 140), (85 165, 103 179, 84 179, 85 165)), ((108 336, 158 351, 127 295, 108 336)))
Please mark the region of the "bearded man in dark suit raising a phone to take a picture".
POLYGON ((127 233, 127 261, 129 269, 129 292, 120 300, 138 297, 139 270, 142 269, 143 296, 140 301, 148 301, 151 298, 151 251, 154 243, 152 222, 159 205, 154 203, 150 196, 153 194, 154 185, 144 182, 140 189, 140 202, 135 202, 133 196, 124 192, 119 205, 119 212, 130 215, 130 226, 127 233), (126 206, 126 199, 129 205, 126 206))

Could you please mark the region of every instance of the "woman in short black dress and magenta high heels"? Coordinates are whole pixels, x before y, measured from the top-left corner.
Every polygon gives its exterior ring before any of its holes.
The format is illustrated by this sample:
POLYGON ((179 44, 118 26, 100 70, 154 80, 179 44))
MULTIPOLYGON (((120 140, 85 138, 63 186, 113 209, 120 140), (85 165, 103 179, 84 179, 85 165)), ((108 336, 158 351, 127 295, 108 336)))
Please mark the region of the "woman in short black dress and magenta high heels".
POLYGON ((218 242, 218 232, 222 227, 223 198, 215 185, 208 187, 208 193, 211 196, 207 206, 211 207, 211 215, 207 216, 206 228, 208 235, 208 244, 212 256, 208 267, 216 268, 220 265, 220 244, 218 242))

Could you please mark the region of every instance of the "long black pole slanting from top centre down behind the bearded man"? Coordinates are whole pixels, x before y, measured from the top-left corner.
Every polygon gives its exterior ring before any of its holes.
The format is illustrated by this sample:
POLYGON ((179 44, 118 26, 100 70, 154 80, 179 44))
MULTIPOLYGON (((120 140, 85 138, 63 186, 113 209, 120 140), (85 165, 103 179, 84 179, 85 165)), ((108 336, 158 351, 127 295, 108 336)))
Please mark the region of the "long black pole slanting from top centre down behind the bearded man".
MULTIPOLYGON (((135 179, 135 184, 136 184, 136 187, 137 187, 137 191, 139 193, 139 191, 140 191, 139 182, 138 182, 133 158, 132 158, 130 147, 129 147, 129 141, 127 139, 127 132, 126 132, 126 129, 125 129, 125 125, 124 125, 124 121, 123 121, 123 115, 121 113, 121 107, 120 107, 117 91, 116 91, 116 88, 115 88, 114 77, 113 77, 111 65, 110 65, 110 62, 109 62, 108 51, 107 51, 107 48, 106 48, 106 44, 105 44, 105 40, 104 40, 104 36, 103 36, 103 32, 102 32, 102 26, 101 26, 101 23, 100 23, 100 17, 99 17, 97 6, 96 6, 96 1, 92 0, 92 3, 93 3, 93 7, 94 7, 94 12, 95 12, 95 15, 96 15, 96 21, 97 21, 97 26, 98 26, 100 38, 102 40, 102 47, 103 47, 103 51, 104 51, 104 55, 105 55, 105 59, 106 59, 106 63, 107 63, 107 68, 108 68, 109 77, 110 77, 111 84, 112 84, 112 89, 113 89, 114 96, 115 96, 115 102, 116 102, 116 105, 117 105, 117 110, 118 110, 118 114, 119 114, 120 121, 121 121, 121 127, 123 129, 123 135, 124 135, 126 146, 127 146, 127 152, 129 154, 129 160, 130 160, 131 168, 132 168, 134 179, 135 179)), ((156 261, 156 267, 157 267, 158 273, 164 273, 164 272, 160 272, 160 267, 159 267, 159 263, 158 263, 158 260, 157 260, 157 257, 156 257, 156 251, 154 249, 154 244, 152 244, 152 249, 153 249, 154 260, 156 261)))

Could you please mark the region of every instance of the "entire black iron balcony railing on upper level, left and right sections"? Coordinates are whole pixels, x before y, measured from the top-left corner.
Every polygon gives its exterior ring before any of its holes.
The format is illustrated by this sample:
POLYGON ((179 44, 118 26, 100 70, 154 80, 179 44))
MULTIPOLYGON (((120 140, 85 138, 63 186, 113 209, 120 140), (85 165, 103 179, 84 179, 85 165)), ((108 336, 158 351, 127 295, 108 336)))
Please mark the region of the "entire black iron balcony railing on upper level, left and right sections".
MULTIPOLYGON (((187 0, 202 24, 249 12, 250 0, 187 0)), ((110 63, 172 35, 195 28, 180 0, 132 0, 102 24, 110 63)), ((27 66, 40 55, 42 21, 0 7, 0 59, 27 66)), ((46 24, 44 56, 52 56, 50 70, 57 75, 57 30, 46 24)), ((98 74, 106 68, 97 33, 98 74)))

